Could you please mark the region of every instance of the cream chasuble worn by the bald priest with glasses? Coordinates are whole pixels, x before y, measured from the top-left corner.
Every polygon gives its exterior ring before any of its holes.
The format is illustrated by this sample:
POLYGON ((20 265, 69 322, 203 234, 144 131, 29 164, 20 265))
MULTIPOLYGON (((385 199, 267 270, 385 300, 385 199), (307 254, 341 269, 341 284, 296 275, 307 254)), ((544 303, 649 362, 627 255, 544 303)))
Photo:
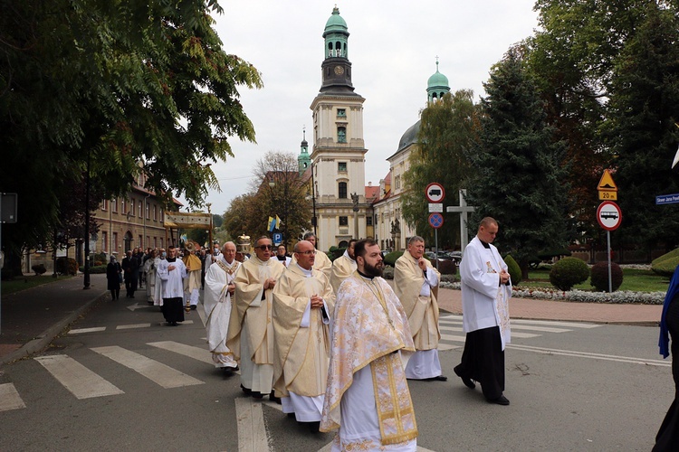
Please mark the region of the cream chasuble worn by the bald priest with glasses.
POLYGON ((323 298, 332 318, 335 296, 325 274, 312 269, 307 278, 297 265, 283 272, 273 288, 273 389, 276 397, 289 391, 316 397, 325 393, 330 362, 330 325, 323 323, 321 309, 309 312, 308 327, 301 327, 302 316, 312 295, 323 298))

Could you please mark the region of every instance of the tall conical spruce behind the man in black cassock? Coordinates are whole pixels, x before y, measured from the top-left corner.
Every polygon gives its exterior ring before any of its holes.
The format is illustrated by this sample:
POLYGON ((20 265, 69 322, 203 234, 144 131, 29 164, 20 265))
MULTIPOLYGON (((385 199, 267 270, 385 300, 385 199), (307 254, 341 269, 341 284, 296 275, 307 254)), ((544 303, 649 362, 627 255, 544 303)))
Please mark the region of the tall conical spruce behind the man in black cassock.
POLYGON ((476 168, 467 195, 475 224, 485 216, 501 223, 502 250, 527 278, 533 256, 570 239, 564 147, 554 142, 518 49, 495 64, 484 88, 479 145, 467 153, 476 168))

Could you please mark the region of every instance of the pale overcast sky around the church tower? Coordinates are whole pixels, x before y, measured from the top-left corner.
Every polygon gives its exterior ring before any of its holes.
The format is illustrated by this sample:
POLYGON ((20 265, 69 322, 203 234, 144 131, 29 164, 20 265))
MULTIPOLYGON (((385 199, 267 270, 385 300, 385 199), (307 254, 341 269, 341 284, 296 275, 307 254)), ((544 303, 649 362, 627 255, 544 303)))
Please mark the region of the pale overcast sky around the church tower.
POLYGON ((266 152, 298 155, 303 127, 311 154, 309 107, 319 93, 322 33, 335 5, 349 27, 355 92, 366 99, 365 184, 376 185, 389 171, 387 157, 425 107, 436 57, 450 88, 473 89, 478 101, 493 64, 537 28, 534 1, 222 0, 225 12, 214 18, 225 52, 252 63, 264 87, 239 89, 257 143, 233 137, 234 157, 212 165, 221 186, 206 199, 212 212, 225 212, 248 192, 254 163, 266 152))

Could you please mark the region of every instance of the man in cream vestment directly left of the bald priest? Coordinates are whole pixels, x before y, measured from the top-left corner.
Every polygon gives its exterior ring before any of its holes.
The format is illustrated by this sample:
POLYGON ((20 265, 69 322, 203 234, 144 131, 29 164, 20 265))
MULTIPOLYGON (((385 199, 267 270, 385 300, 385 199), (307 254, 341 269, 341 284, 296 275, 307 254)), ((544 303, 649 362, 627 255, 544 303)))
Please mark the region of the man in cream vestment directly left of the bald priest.
POLYGON ((254 256, 235 276, 235 300, 226 346, 240 361, 241 389, 255 399, 273 398, 273 287, 285 271, 271 259, 272 240, 260 237, 254 256))

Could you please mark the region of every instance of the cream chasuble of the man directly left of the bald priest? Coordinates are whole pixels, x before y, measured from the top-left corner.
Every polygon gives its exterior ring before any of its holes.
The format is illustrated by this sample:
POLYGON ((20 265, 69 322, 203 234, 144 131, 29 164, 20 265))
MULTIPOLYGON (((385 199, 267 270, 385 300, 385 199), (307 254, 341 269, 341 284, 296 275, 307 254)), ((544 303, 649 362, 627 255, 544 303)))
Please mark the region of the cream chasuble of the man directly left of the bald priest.
POLYGON ((234 353, 236 360, 251 359, 255 364, 273 364, 273 325, 271 308, 273 288, 264 290, 264 280, 273 278, 276 282, 285 270, 279 262, 266 262, 253 256, 241 264, 235 275, 235 300, 232 303, 229 332, 226 346, 234 353), (247 323, 248 337, 241 337, 243 325, 247 323), (248 341, 252 356, 240 356, 240 341, 248 341))

